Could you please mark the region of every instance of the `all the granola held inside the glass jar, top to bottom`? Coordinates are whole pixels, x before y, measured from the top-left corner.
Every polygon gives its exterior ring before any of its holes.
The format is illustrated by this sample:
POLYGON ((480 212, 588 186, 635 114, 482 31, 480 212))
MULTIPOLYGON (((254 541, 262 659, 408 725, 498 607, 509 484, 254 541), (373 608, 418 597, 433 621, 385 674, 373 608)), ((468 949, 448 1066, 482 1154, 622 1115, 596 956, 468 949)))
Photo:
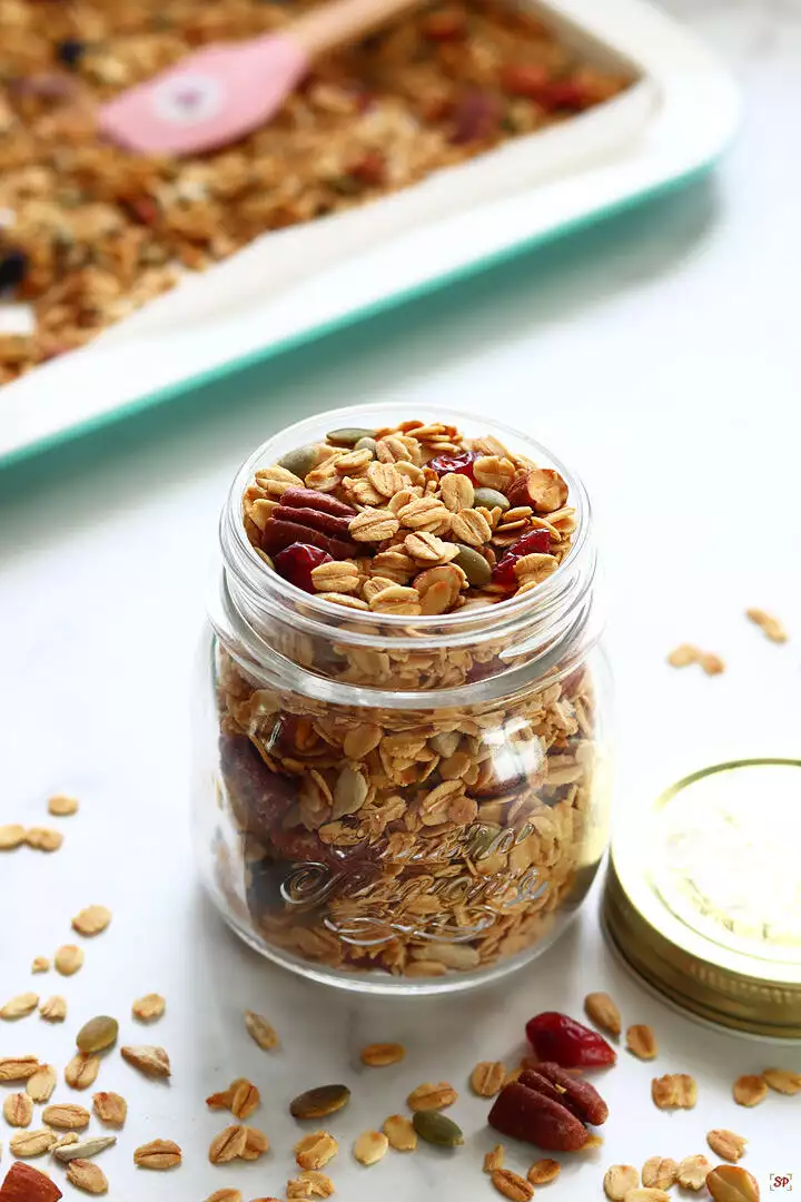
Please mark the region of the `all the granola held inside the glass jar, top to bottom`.
POLYGON ((322 701, 217 647, 229 910, 268 946, 408 977, 488 968, 549 935, 605 841, 590 670, 567 648, 501 701, 476 688, 444 704, 435 690, 509 667, 512 636, 490 623, 467 647, 413 644, 432 615, 521 594, 537 611, 575 525, 562 476, 444 423, 335 430, 258 471, 244 522, 276 572, 330 602, 329 638, 289 619, 269 648, 377 700, 322 701), (348 641, 354 609, 372 645, 348 641), (406 620, 390 631, 385 614, 406 620), (400 691, 419 704, 393 704, 400 691))

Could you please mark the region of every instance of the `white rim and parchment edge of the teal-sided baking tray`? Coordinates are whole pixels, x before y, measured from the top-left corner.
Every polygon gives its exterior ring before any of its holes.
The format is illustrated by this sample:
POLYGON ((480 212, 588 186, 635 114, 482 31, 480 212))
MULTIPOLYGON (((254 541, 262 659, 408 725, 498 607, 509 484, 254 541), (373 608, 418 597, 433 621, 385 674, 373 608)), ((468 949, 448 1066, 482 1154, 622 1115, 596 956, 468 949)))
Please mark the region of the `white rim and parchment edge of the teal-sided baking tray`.
POLYGON ((580 228, 710 167, 737 90, 645 0, 532 7, 627 91, 363 208, 268 233, 0 391, 0 466, 580 228))

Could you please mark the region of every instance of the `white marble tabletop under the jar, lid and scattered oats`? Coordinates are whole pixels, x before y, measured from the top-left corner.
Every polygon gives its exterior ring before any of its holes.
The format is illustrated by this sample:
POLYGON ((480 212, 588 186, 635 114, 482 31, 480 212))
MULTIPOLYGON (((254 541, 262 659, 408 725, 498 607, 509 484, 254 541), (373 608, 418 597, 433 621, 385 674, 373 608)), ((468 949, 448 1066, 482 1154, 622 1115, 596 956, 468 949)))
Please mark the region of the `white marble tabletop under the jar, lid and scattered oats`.
MULTIPOLYGON (((286 1101, 336 1079, 354 1089, 330 1123, 342 1144, 330 1166, 339 1196, 489 1197, 479 1167, 492 1141, 485 1106, 466 1090, 470 1069, 484 1058, 512 1063, 531 1013, 579 1012, 587 989, 604 987, 627 1020, 653 1024, 660 1072, 698 1076, 700 1100, 694 1112, 657 1112, 652 1069, 623 1057, 604 1081, 612 1117, 603 1149, 572 1162, 548 1188, 552 1197, 599 1197, 614 1161, 703 1152, 712 1126, 749 1137, 745 1162, 765 1195, 769 1172, 795 1172, 801 1185, 801 1099, 771 1095, 743 1111, 729 1093, 735 1076, 770 1061, 801 1069, 801 1051, 671 1012, 605 951, 594 903, 556 948, 494 990, 370 1001, 258 962, 202 900, 191 862, 189 670, 227 482, 291 416, 390 391, 410 403, 440 395, 501 409, 584 474, 606 567, 620 811, 728 754, 797 755, 801 5, 671 7, 718 46, 747 94, 742 136, 713 179, 0 478, 0 822, 40 821, 56 790, 83 802, 60 823, 58 855, 22 850, 0 861, 0 993, 32 981, 70 1000, 64 1028, 36 1017, 0 1025, 0 1054, 64 1066, 78 1024, 103 1011, 124 1019, 126 1042, 163 1042, 169 1085, 142 1081, 116 1055, 101 1070, 100 1088, 131 1105, 103 1159, 119 1202, 201 1202, 223 1185, 282 1195, 295 1138, 286 1101), (796 639, 763 641, 742 619, 751 603, 781 613, 796 639), (719 651, 727 674, 671 673, 664 653, 683 639, 719 651), (84 969, 70 981, 31 978, 31 958, 68 941, 70 916, 91 902, 115 918, 88 941, 84 969), (153 989, 166 994, 167 1016, 135 1030, 130 1004, 153 989), (247 1006, 273 1018, 280 1053, 249 1041, 247 1006), (407 1061, 361 1070, 358 1048, 377 1039, 405 1041, 407 1061), (252 1121, 274 1150, 257 1165, 213 1168, 205 1149, 223 1119, 203 1099, 240 1073, 262 1088, 252 1121), (402 1108, 424 1079, 464 1089, 454 1113, 466 1148, 354 1165, 355 1135, 402 1108), (184 1147, 177 1174, 133 1168, 132 1148, 153 1137, 184 1147)), ((769 799, 760 803, 770 822, 769 799)), ((532 1159, 515 1149, 509 1164, 525 1170, 532 1159)))

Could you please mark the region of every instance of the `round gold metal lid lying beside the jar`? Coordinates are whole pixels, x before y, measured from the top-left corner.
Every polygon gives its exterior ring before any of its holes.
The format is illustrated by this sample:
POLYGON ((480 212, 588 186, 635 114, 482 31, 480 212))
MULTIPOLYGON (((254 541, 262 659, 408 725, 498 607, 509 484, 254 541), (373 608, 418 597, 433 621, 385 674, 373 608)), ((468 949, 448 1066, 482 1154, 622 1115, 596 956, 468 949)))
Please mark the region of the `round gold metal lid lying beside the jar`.
POLYGON ((703 1018, 801 1039, 801 761, 740 760, 627 814, 603 918, 623 958, 703 1018))

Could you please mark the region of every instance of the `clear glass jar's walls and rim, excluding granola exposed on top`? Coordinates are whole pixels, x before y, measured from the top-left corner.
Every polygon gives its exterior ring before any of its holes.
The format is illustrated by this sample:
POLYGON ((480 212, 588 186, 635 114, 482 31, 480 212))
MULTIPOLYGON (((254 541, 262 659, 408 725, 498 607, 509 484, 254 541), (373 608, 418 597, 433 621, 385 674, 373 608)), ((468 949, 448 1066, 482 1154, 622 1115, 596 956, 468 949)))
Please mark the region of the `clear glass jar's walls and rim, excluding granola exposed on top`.
POLYGON ((220 541, 193 792, 203 879, 228 923, 305 976, 395 994, 464 988, 542 952, 586 897, 609 826, 580 481, 476 416, 351 407, 247 459, 220 541), (562 475, 552 575, 502 603, 410 617, 333 605, 273 570, 244 522, 255 474, 325 430, 408 418, 491 435, 562 475))

